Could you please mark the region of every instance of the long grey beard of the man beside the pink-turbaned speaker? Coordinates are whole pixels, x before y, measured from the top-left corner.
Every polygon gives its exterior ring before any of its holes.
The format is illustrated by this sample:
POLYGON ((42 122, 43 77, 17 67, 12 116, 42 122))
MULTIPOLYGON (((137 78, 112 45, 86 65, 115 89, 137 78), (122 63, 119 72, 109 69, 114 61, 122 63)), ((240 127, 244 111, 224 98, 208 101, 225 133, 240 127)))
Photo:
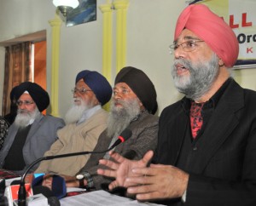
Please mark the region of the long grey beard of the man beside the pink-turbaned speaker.
POLYGON ((136 118, 140 113, 139 100, 112 100, 111 112, 108 116, 107 134, 109 137, 119 135, 131 121, 136 118), (118 101, 123 107, 119 108, 114 106, 118 101))

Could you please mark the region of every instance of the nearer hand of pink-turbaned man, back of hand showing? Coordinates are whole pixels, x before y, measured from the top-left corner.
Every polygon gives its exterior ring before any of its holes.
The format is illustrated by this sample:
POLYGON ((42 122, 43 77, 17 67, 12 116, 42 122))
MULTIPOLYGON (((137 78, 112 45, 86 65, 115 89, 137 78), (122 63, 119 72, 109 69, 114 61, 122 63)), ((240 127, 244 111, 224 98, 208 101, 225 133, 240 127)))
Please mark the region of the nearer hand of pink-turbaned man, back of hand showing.
POLYGON ((127 192, 136 194, 138 200, 182 197, 189 181, 187 173, 170 165, 151 164, 149 168, 132 169, 132 173, 125 185, 134 185, 127 192))

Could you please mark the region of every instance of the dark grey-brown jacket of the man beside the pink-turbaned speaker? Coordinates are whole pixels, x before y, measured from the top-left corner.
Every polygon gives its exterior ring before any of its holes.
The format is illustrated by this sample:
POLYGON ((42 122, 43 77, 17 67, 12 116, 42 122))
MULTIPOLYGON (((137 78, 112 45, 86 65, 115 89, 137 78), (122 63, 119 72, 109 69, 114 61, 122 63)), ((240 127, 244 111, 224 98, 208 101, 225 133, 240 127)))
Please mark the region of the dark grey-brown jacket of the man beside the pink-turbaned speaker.
MULTIPOLYGON (((148 150, 154 151, 157 145, 158 120, 159 117, 148 114, 148 112, 141 113, 137 120, 128 126, 132 132, 131 138, 116 146, 114 151, 130 159, 141 159, 148 150)), ((111 140, 112 137, 107 136, 106 130, 103 131, 94 151, 107 150, 111 140)), ((110 178, 96 174, 96 170, 102 168, 98 162, 104 155, 105 153, 92 154, 84 168, 79 171, 79 173, 84 171, 90 173, 96 189, 102 189, 102 186, 106 186, 103 189, 107 189, 108 183, 112 181, 110 178)))

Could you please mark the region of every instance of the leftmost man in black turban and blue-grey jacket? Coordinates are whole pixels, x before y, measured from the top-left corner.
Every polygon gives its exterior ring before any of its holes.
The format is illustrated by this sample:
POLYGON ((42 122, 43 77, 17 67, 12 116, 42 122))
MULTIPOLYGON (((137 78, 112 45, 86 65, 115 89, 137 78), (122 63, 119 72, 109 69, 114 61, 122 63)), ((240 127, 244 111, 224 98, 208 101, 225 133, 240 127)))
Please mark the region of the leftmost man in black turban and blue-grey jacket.
POLYGON ((0 152, 0 167, 22 173, 26 166, 44 156, 65 123, 61 118, 41 113, 49 106, 49 94, 37 83, 20 83, 15 97, 17 116, 0 152))

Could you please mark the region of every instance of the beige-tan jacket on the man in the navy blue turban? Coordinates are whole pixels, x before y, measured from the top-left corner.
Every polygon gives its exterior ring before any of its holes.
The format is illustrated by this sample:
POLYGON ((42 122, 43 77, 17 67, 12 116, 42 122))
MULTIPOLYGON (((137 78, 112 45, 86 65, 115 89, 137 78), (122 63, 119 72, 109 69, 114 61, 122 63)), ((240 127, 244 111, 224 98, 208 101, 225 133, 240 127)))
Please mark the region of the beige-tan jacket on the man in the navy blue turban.
MULTIPOLYGON (((59 140, 50 147, 44 156, 60 155, 72 152, 93 151, 99 135, 107 127, 108 112, 98 110, 84 123, 67 124, 58 131, 59 140)), ((42 162, 35 173, 51 173, 61 175, 75 175, 81 169, 90 155, 56 158, 42 162)))

